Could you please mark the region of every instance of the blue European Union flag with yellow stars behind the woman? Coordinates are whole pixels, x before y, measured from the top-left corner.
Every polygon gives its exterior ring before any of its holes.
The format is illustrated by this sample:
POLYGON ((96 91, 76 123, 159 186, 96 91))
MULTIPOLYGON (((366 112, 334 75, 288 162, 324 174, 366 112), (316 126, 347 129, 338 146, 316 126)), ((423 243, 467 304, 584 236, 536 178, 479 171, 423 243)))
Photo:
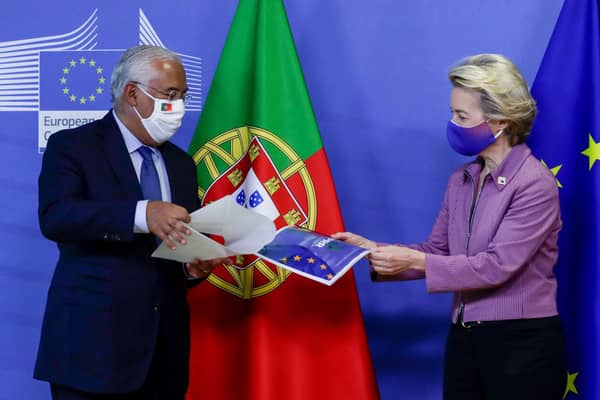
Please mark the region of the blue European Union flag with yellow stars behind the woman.
POLYGON ((530 145, 559 186, 558 306, 567 399, 600 399, 600 24, 598 0, 565 0, 532 93, 530 145))

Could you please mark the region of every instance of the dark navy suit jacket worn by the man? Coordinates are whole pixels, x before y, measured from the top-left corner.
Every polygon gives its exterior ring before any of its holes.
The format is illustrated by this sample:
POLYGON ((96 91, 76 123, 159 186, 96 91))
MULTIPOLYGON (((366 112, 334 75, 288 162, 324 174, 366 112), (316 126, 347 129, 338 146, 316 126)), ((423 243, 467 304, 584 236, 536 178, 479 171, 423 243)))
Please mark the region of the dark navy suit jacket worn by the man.
MULTIPOLYGON (((172 202, 199 207, 196 167, 173 144, 160 147, 172 202)), ((180 263, 150 257, 149 234, 134 234, 141 189, 112 112, 57 132, 39 177, 39 220, 60 257, 48 291, 34 376, 102 393, 144 382, 157 337, 170 373, 187 385, 189 310, 180 263)))

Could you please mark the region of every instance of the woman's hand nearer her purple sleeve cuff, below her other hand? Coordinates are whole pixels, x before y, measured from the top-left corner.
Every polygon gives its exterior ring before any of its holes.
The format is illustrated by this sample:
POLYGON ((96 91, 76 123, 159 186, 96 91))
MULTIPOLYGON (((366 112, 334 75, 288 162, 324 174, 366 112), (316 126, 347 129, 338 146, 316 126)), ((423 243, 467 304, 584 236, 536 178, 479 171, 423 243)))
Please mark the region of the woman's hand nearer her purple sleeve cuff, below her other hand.
POLYGON ((396 275, 412 269, 425 271, 425 253, 402 246, 381 246, 369 254, 371 267, 381 275, 396 275))

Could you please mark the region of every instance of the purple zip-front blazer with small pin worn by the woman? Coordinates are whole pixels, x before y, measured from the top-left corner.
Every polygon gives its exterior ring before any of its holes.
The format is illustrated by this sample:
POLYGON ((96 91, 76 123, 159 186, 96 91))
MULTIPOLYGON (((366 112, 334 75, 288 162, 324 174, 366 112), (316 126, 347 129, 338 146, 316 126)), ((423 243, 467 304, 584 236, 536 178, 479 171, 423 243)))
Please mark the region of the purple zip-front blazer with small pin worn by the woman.
POLYGON ((455 292, 452 321, 557 315, 558 232, 562 227, 556 180, 526 144, 511 150, 488 174, 474 204, 482 164, 475 160, 448 181, 442 208, 423 251, 425 273, 376 280, 425 278, 427 290, 455 292))

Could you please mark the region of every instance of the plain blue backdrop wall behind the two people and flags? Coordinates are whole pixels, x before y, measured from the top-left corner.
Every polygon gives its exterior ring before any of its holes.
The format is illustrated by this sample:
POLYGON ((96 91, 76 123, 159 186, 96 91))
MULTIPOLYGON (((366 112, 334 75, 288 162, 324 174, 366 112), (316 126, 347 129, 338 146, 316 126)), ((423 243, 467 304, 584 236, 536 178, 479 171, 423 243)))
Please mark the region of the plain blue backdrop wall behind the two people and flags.
MULTIPOLYGON (((243 0, 242 0, 243 1, 243 0)), ((20 0, 0 14, 12 41, 60 35, 97 7, 97 49, 138 43, 139 9, 163 43, 202 58, 206 94, 237 1, 20 0)), ((389 242, 423 240, 446 179, 465 159, 447 145, 448 69, 503 53, 532 84, 562 0, 284 0, 348 230, 389 242)), ((3 69, 4 68, 4 69, 3 69)), ((48 399, 31 378, 57 251, 37 224, 38 115, 6 111, 0 90, 0 399, 48 399)), ((10 100, 10 99, 8 99, 10 100)), ((176 143, 187 148, 200 112, 176 143)), ((450 295, 424 282, 372 284, 355 268, 383 399, 439 399, 450 295)))

